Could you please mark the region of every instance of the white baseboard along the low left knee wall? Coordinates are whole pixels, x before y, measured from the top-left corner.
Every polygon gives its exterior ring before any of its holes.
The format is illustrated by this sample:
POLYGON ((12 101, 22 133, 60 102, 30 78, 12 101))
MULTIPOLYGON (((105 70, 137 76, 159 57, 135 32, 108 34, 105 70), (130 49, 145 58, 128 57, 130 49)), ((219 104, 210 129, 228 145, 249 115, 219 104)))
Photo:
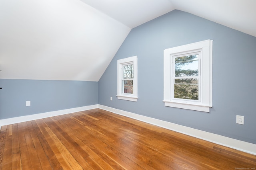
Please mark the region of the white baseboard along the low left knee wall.
POLYGON ((46 113, 38 113, 38 114, 34 114, 34 115, 26 115, 26 116, 20 116, 20 117, 12 117, 12 118, 8 118, 8 119, 1 119, 0 127, 4 126, 4 125, 11 125, 14 123, 21 123, 21 122, 25 122, 25 121, 43 119, 46 117, 53 117, 53 116, 64 115, 64 114, 68 114, 68 113, 74 113, 74 112, 78 112, 78 111, 84 111, 84 110, 96 109, 96 108, 98 108, 98 104, 90 105, 90 106, 83 106, 83 107, 75 107, 75 108, 71 108, 71 109, 50 111, 50 112, 46 112, 46 113))

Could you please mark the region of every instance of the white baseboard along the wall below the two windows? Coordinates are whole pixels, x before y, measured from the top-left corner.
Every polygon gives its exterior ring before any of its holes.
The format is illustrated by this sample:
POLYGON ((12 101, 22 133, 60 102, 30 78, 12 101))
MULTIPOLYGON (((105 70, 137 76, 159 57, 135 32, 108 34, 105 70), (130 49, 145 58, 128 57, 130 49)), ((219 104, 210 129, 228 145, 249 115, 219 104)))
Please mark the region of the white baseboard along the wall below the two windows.
POLYGON ((167 121, 162 121, 162 120, 159 120, 159 119, 154 119, 154 118, 146 117, 146 116, 143 116, 143 115, 138 115, 138 114, 135 114, 135 113, 131 113, 131 112, 128 112, 128 111, 123 111, 123 110, 120 110, 120 109, 115 109, 115 108, 108 107, 108 106, 98 105, 98 108, 106 110, 106 111, 110 111, 112 113, 116 113, 116 114, 119 114, 119 115, 124 115, 124 116, 130 117, 132 119, 137 119, 137 120, 140 120, 140 121, 143 121, 143 122, 146 122, 146 123, 150 123, 152 125, 157 125, 159 127, 164 127, 165 129, 170 129, 172 131, 176 131, 176 132, 179 132, 179 133, 190 135, 192 137, 203 139, 205 141, 216 143, 218 145, 226 146, 226 147, 229 147, 229 148, 233 148, 233 149, 236 149, 236 150, 240 150, 240 151, 243 151, 243 152, 247 152, 247 153, 256 155, 256 144, 253 144, 253 143, 248 143, 248 142, 240 141, 240 140, 237 140, 237 139, 232 139, 232 138, 229 138, 229 137, 216 135, 214 133, 209 133, 209 132, 206 132, 206 131, 193 129, 191 127, 186 127, 186 126, 178 125, 178 124, 175 124, 175 123, 170 123, 170 122, 167 122, 167 121))

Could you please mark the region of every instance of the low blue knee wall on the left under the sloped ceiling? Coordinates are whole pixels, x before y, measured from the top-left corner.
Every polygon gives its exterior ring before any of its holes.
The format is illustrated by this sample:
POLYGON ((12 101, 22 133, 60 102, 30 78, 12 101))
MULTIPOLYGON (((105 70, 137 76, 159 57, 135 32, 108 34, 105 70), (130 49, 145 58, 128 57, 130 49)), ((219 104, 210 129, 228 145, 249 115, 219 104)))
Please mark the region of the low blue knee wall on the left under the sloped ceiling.
POLYGON ((98 82, 0 79, 0 87, 0 119, 98 104, 98 82))

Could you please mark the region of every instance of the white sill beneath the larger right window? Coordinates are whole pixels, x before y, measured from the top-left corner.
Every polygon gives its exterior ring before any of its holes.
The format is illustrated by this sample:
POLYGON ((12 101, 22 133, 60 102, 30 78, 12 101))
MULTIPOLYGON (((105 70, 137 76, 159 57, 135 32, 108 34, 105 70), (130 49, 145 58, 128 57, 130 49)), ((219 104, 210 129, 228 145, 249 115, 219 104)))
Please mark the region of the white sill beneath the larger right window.
POLYGON ((164 102, 164 106, 168 106, 168 107, 176 107, 181 109, 189 109, 189 110, 204 111, 204 112, 210 112, 210 107, 212 107, 212 106, 205 106, 200 104, 171 102, 171 101, 165 101, 165 100, 163 100, 163 102, 164 102))

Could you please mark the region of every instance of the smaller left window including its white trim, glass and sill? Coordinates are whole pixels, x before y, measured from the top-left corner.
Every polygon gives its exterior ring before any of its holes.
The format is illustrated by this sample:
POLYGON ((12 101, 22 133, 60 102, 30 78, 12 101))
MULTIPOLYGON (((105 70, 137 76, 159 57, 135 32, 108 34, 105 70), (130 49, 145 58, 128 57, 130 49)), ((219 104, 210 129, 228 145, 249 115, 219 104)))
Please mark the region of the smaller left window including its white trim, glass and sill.
POLYGON ((117 61, 117 98, 137 102, 137 56, 117 61))

